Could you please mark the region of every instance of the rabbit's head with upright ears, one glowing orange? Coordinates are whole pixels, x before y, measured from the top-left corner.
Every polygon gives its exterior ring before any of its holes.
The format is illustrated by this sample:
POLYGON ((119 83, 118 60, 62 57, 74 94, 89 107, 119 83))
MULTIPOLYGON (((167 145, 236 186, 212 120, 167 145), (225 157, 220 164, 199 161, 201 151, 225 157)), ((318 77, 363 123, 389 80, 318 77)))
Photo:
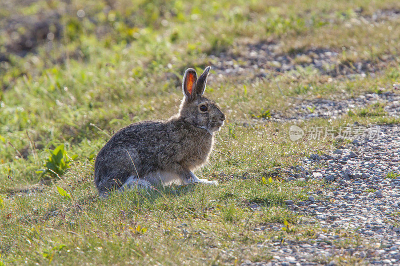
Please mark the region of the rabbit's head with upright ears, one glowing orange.
POLYGON ((198 77, 193 68, 184 72, 182 90, 183 99, 179 108, 179 115, 186 123, 207 130, 211 135, 223 125, 225 115, 218 105, 205 97, 203 93, 210 67, 198 77))

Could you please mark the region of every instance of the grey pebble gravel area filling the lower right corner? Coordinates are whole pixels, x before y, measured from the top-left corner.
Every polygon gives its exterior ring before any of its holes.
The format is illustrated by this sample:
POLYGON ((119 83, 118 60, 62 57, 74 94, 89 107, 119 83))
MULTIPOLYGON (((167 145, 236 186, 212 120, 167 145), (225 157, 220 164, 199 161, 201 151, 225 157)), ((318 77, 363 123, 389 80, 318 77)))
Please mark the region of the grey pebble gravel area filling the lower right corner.
POLYGON ((354 140, 332 154, 312 154, 304 159, 304 167, 291 170, 291 178, 325 179, 332 182, 332 188, 315 191, 305 202, 286 204, 294 212, 315 219, 322 233, 310 241, 269 241, 264 245, 273 255, 270 262, 244 262, 242 266, 343 265, 350 263, 350 258, 370 265, 400 265, 399 157, 400 127, 390 125, 381 126, 379 136, 354 140), (315 163, 324 166, 306 170, 315 163), (347 246, 352 248, 340 247, 339 232, 347 232, 347 246), (346 257, 347 262, 338 262, 336 256, 346 257))

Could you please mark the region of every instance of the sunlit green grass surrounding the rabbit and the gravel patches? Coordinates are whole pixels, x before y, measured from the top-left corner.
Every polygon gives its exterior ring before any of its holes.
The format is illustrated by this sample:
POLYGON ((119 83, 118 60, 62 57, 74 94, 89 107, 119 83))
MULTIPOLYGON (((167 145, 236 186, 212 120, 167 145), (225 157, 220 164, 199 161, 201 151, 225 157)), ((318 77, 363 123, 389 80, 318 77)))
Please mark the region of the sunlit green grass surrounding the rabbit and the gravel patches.
MULTIPOLYGON (((329 186, 284 182, 288 176, 282 169, 346 140, 305 136, 293 142, 292 123, 268 119, 290 113, 288 103, 304 99, 391 91, 400 76, 399 19, 373 27, 357 22, 378 8, 399 8, 395 0, 6 3, 0 0, 2 27, 12 16, 53 11, 62 32, 51 47, 39 41, 23 57, 4 50, 12 36, 0 34, 0 53, 8 59, 0 63, 0 264, 234 265, 270 260, 273 241, 315 241, 324 229, 284 201, 303 201, 329 186), (354 11, 359 7, 361 14, 354 11), (79 9, 83 17, 76 15, 79 9), (311 47, 339 51, 338 61, 349 67, 357 61, 378 64, 388 55, 393 59, 375 75, 351 79, 321 75, 312 67, 254 79, 211 70, 206 95, 217 101, 227 121, 210 163, 196 175, 220 185, 159 187, 98 199, 93 160, 113 132, 173 115, 187 67, 200 71, 213 63, 211 54, 232 50, 235 55, 243 43, 264 41, 281 43, 286 54, 311 47), (260 227, 266 229, 255 230, 260 227)), ((21 24, 18 34, 27 30, 21 24)), ((56 27, 50 32, 56 35, 56 27)), ((298 126, 310 132, 354 122, 398 124, 383 107, 373 104, 337 120, 312 119, 298 126)), ((343 248, 357 237, 335 234, 340 235, 335 245, 343 248)), ((359 263, 337 256, 315 260, 359 263)))

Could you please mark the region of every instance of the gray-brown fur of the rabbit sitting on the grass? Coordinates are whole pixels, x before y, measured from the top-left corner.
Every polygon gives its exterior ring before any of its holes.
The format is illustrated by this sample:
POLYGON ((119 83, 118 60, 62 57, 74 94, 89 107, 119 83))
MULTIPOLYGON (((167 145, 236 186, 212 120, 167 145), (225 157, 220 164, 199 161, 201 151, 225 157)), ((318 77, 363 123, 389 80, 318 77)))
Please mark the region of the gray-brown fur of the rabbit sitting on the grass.
POLYGON ((124 188, 128 178, 138 177, 151 185, 209 182, 191 172, 207 161, 213 133, 225 119, 218 106, 202 96, 208 71, 209 67, 198 80, 194 69, 185 71, 184 97, 176 115, 166 121, 133 123, 104 145, 94 163, 94 182, 101 197, 110 190, 124 188), (187 87, 190 78, 194 78, 191 88, 187 87), (205 112, 201 111, 203 105, 207 107, 205 112))

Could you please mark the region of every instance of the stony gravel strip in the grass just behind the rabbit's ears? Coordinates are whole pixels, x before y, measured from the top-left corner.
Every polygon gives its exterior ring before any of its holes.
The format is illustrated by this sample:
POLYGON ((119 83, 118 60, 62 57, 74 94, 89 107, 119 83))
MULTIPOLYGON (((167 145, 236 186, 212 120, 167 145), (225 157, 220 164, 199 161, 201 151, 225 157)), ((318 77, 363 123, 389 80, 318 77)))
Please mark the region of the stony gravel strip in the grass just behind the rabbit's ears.
POLYGON ((331 77, 365 75, 380 69, 379 64, 370 61, 341 62, 339 53, 339 49, 320 47, 283 53, 277 43, 260 42, 239 45, 209 58, 217 73, 253 77, 265 77, 271 72, 288 72, 299 67, 316 69, 320 74, 331 77))

